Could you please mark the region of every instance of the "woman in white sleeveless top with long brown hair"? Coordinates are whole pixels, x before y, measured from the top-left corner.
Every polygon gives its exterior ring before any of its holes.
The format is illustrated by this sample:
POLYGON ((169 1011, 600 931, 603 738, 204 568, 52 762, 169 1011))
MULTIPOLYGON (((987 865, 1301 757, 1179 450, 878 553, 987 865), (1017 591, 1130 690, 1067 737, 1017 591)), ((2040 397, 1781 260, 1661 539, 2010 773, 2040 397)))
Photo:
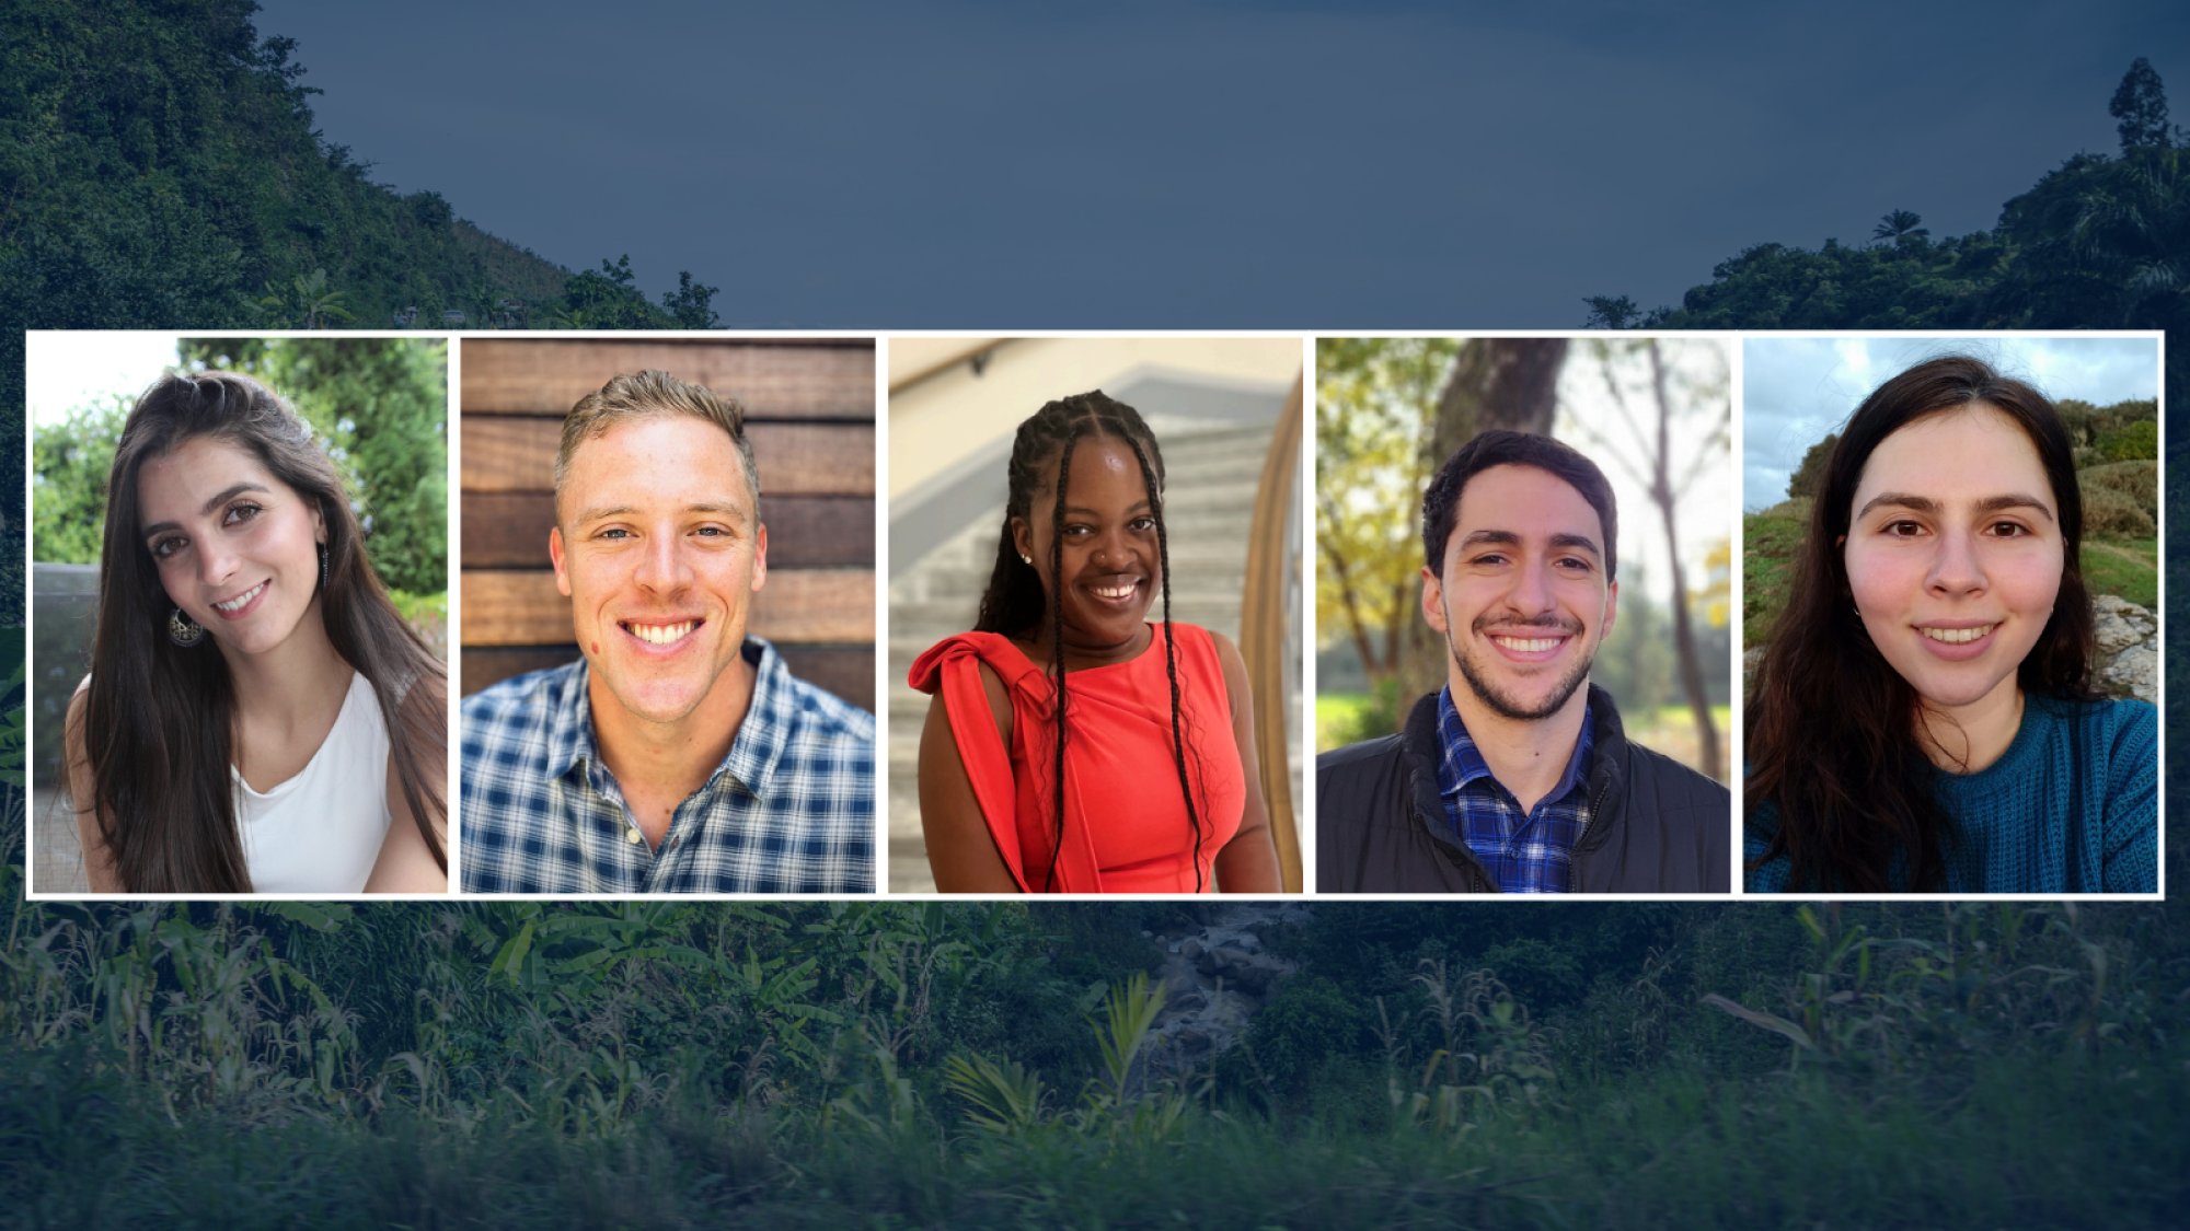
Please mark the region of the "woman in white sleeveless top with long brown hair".
POLYGON ((66 753, 92 891, 449 885, 447 670, 247 377, 162 377, 123 427, 66 753))

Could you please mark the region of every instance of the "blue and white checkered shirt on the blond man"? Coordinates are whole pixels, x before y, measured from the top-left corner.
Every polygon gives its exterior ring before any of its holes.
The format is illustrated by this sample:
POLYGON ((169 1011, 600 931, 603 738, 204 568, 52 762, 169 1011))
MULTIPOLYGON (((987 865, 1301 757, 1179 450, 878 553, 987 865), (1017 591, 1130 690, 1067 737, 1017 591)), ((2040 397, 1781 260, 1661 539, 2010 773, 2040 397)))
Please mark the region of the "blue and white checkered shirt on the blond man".
POLYGON ((587 666, 464 699, 466 894, 872 894, 874 714, 793 679, 745 640, 753 703, 723 764, 639 832, 593 743, 587 666))

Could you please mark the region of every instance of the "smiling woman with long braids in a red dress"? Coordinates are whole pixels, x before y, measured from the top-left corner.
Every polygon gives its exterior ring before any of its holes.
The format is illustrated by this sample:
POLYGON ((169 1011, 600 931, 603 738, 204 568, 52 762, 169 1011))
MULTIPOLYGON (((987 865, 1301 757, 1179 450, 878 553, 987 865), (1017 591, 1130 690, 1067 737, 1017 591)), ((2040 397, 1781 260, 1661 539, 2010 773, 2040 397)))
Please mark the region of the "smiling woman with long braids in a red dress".
POLYGON ((1172 622, 1163 453, 1130 405, 1088 392, 1018 425, 975 631, 920 655, 911 686, 935 697, 937 889, 1279 891, 1246 664, 1172 622))

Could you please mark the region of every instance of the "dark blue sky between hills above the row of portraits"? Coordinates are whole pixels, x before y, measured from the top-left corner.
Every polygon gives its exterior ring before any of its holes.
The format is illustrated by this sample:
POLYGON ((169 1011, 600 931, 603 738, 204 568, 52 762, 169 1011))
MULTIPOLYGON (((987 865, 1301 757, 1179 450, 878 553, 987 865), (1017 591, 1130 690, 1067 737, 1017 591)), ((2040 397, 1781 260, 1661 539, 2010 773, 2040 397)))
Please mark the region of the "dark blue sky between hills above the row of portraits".
POLYGON ((727 324, 1557 329, 1989 228, 2190 9, 269 0, 374 177, 727 324))

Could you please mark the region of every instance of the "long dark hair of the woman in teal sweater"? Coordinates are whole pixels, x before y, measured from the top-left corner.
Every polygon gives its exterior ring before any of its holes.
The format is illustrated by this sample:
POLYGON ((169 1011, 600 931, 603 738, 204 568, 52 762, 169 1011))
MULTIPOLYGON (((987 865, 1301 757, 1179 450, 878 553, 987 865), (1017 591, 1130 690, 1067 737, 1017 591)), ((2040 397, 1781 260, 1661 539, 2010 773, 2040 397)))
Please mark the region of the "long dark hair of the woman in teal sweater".
POLYGON ((1864 631, 1842 539, 1872 449, 1918 418, 1969 405, 1991 405, 2024 429, 2061 510, 2061 594, 2015 679, 2026 692, 2091 697, 2091 596, 2076 561, 2083 497, 2061 414, 2035 388, 1960 355, 1886 381, 1824 462, 1794 591, 1750 688, 1743 797, 1750 815, 1761 804, 1778 810, 1750 867, 1787 856, 1789 889, 1936 891, 1947 883, 1953 817, 1916 738, 1921 699, 1864 631))

